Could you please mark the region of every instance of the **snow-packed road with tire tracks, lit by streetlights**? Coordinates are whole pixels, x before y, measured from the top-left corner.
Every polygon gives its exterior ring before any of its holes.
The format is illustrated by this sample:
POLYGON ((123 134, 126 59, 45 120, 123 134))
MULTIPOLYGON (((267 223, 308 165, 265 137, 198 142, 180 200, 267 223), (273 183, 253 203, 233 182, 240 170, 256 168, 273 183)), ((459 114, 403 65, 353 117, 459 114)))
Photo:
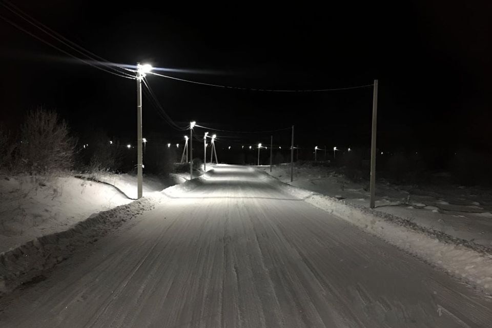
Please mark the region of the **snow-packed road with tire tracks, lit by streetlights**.
POLYGON ((492 301, 246 167, 2 301, 7 327, 490 327, 492 301))

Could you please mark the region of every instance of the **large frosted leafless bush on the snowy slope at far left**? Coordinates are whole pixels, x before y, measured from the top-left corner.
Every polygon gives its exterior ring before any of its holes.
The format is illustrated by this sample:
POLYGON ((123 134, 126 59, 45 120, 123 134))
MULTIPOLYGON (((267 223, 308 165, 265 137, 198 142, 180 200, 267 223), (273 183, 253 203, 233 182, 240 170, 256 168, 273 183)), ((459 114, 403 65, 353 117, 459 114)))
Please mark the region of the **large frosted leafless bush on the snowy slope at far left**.
POLYGON ((54 111, 30 111, 21 129, 20 158, 31 174, 46 174, 70 169, 75 141, 65 121, 54 111))

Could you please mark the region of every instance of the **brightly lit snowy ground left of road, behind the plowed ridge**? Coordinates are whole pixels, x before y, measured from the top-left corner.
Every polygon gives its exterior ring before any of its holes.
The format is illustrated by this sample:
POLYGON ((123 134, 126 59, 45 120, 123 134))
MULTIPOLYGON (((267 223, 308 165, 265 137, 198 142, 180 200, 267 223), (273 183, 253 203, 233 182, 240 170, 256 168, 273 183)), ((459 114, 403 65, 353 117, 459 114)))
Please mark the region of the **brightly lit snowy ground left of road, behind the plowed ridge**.
MULTIPOLYGON (((136 195, 136 178, 128 174, 98 174, 116 186, 70 175, 53 177, 0 176, 0 253, 29 240, 65 231, 100 211, 127 204, 136 195)), ((146 177, 144 193, 170 186, 146 177)))

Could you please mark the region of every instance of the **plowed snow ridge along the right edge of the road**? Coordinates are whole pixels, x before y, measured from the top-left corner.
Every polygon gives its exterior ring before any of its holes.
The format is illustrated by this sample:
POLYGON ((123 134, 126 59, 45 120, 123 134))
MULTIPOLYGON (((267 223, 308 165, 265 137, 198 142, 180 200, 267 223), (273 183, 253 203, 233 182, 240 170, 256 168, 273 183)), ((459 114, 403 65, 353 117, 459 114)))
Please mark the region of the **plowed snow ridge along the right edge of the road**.
POLYGON ((486 293, 492 293, 492 252, 483 245, 419 226, 392 214, 279 183, 306 202, 376 235, 486 293))

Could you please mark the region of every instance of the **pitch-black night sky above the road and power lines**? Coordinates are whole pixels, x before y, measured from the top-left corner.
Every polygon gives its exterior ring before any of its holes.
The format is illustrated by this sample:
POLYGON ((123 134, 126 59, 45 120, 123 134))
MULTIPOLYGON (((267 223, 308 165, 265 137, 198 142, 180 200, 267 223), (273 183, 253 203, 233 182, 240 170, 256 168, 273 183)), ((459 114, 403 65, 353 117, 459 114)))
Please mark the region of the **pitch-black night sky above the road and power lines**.
MULTIPOLYGON (((169 73, 176 77, 276 89, 357 86, 378 78, 381 149, 492 149, 491 5, 178 8, 168 2, 29 0, 17 6, 115 63, 212 71, 169 73)), ((35 31, 3 7, 0 14, 35 31)), ((134 139, 134 81, 69 60, 2 19, 0 37, 7 63, 0 119, 9 126, 27 109, 43 105, 56 109, 77 133, 102 128, 134 139)), ((371 88, 288 94, 148 80, 181 125, 196 120, 227 130, 269 130, 295 124, 297 141, 306 147, 370 144, 371 88)), ((174 142, 183 134, 144 99, 144 136, 151 133, 174 142)), ((288 142, 289 133, 276 137, 288 142)), ((267 135, 248 141, 268 140, 267 135)))

